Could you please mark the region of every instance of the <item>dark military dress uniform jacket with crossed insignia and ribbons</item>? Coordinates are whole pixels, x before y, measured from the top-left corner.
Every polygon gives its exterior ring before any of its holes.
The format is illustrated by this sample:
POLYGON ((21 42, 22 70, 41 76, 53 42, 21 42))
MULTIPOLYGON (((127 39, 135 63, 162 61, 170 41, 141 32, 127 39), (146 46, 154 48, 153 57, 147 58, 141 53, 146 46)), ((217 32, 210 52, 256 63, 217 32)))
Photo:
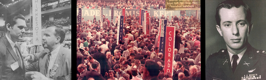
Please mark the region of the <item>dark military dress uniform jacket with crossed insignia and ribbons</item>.
POLYGON ((227 49, 211 54, 206 61, 206 80, 266 79, 266 52, 264 50, 257 50, 248 44, 234 73, 230 61, 227 49))

